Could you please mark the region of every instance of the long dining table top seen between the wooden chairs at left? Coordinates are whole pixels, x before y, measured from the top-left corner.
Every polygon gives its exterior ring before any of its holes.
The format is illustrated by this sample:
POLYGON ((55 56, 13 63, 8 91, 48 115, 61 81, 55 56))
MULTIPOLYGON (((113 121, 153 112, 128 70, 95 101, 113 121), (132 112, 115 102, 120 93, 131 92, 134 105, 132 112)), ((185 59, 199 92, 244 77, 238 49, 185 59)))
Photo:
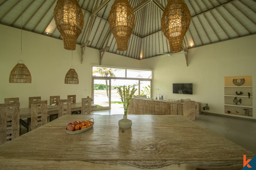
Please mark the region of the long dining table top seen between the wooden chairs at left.
MULTIPOLYGON (((47 109, 47 115, 52 115, 52 114, 58 114, 59 111, 59 105, 56 105, 57 107, 55 108, 48 108, 47 109)), ((80 111, 82 107, 82 103, 71 103, 71 112, 74 111, 80 111)), ((95 104, 91 104, 91 107, 97 107, 95 104)), ((20 119, 25 119, 31 117, 31 108, 21 108, 19 112, 19 117, 20 119)))

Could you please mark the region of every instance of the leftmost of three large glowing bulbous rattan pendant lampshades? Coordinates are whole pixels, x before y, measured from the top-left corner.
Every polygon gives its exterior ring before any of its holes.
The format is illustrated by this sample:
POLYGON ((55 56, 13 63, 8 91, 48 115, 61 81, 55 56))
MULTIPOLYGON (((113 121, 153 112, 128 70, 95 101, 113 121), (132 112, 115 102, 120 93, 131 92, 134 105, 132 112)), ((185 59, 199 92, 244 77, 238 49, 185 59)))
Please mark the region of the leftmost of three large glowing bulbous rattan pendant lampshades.
POLYGON ((77 0, 58 0, 54 8, 54 20, 67 50, 76 50, 84 19, 77 0))

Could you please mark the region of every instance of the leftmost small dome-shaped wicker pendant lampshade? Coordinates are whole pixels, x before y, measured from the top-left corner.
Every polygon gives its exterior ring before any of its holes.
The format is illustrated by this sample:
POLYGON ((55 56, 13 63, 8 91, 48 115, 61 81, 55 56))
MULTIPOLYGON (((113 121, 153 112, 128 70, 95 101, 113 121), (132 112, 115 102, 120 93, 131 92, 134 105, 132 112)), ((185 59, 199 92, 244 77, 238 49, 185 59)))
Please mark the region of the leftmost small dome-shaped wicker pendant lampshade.
POLYGON ((9 83, 31 83, 31 74, 28 68, 25 66, 23 61, 23 63, 19 63, 19 61, 10 73, 9 83))

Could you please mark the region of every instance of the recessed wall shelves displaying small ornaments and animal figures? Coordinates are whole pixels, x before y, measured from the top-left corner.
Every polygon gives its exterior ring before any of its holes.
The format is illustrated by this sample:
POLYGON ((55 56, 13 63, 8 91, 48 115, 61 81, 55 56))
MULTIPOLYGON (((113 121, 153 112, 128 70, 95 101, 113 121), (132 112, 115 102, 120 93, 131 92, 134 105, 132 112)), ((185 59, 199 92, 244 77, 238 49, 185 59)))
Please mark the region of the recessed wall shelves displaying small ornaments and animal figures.
POLYGON ((225 114, 252 118, 252 100, 252 76, 225 77, 225 114), (244 81, 242 85, 236 85, 236 82, 239 83, 241 81, 244 81), (248 93, 250 94, 250 97, 248 93))

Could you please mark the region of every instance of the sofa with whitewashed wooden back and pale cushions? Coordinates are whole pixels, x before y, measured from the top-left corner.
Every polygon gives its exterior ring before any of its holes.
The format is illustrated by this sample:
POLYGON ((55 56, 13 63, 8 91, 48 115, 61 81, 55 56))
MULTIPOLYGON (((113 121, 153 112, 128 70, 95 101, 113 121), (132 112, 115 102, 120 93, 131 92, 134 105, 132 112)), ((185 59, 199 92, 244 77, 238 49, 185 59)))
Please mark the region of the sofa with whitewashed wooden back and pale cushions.
POLYGON ((183 115, 195 122, 195 101, 191 101, 190 99, 154 100, 133 96, 127 108, 127 114, 183 115))

